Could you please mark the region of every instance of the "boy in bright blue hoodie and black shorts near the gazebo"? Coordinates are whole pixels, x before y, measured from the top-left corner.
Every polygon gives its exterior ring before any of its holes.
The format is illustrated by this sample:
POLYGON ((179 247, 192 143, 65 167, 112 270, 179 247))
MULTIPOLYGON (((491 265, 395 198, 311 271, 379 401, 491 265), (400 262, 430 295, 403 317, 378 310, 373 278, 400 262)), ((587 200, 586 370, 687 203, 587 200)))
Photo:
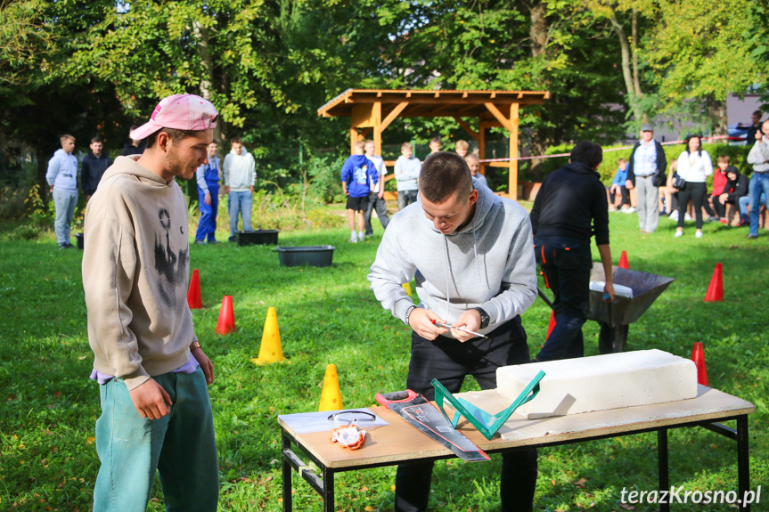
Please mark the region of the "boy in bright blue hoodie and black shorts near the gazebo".
POLYGON ((364 211, 368 205, 372 183, 379 182, 376 165, 364 155, 365 143, 355 144, 355 154, 342 166, 342 191, 348 196, 347 207, 350 239, 352 243, 364 240, 364 211), (356 234, 356 215, 358 232, 356 234))

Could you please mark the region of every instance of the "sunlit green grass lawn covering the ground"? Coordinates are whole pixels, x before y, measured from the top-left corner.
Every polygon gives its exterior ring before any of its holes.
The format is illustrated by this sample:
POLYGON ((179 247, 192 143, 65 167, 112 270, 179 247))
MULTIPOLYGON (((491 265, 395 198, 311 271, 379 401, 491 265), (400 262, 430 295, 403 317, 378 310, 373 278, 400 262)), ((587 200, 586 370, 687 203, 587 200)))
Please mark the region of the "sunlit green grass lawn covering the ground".
MULTIPOLYGON (((769 240, 745 240, 746 229, 693 225, 674 240, 675 225, 641 235, 635 215, 610 215, 614 261, 626 250, 630 267, 675 282, 630 328, 628 350, 659 348, 689 357, 704 342, 710 385, 756 404, 749 417, 751 487, 769 482, 767 441, 767 256, 769 240), (724 264, 724 302, 704 303, 717 262, 724 264)), ((269 226, 263 226, 267 228, 269 226)), ((205 308, 195 328, 216 367, 210 386, 217 427, 222 510, 282 509, 278 414, 316 410, 323 372, 339 370, 345 407, 366 407, 377 392, 405 387, 410 331, 384 311, 365 279, 377 236, 356 245, 342 226, 282 232, 281 245, 331 244, 331 268, 282 268, 274 248, 234 244, 192 246, 205 308), (237 333, 215 333, 222 297, 232 295, 237 333), (257 367, 267 308, 277 309, 287 363, 257 367)), ((225 232, 219 233, 226 240, 225 232)), ((597 261, 597 251, 594 249, 597 261)), ((99 467, 94 422, 97 384, 88 379, 82 252, 60 251, 53 238, 0 240, 0 510, 91 508, 99 467)), ((523 316, 529 347, 544 341, 550 311, 537 300, 523 316)), ((598 354, 597 324, 585 325, 585 351, 598 354)), ((469 380, 465 389, 472 389, 469 380)), ((671 483, 686 490, 736 491, 736 443, 703 428, 669 435, 671 483)), ((486 464, 438 462, 431 509, 497 510, 499 458, 486 464)), ((391 510, 395 467, 337 476, 337 510, 391 510)), ((621 508, 620 492, 657 485, 656 435, 632 435, 539 451, 536 510, 621 508)), ((295 510, 321 510, 321 501, 294 476, 295 510)), ((162 510, 160 486, 151 510, 162 510)), ((754 510, 769 509, 769 489, 754 510)), ((635 505, 635 510, 656 506, 635 505)), ((674 510, 730 510, 727 505, 674 505, 674 510)))

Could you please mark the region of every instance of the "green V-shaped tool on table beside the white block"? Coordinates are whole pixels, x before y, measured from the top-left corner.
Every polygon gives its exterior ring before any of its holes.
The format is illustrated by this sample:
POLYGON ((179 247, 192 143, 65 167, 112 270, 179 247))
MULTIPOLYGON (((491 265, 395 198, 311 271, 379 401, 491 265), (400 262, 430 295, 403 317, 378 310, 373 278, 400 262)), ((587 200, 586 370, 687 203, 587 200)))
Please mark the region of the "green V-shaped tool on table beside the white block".
POLYGON ((540 370, 536 374, 536 377, 528 383, 528 386, 520 392, 515 402, 512 402, 510 407, 505 410, 501 410, 496 414, 489 414, 486 410, 482 410, 476 407, 472 403, 458 398, 448 392, 437 378, 433 378, 430 381, 433 387, 435 387, 435 402, 438 404, 438 408, 446 417, 447 421, 451 422, 452 427, 456 428, 457 423, 461 416, 464 416, 473 427, 478 428, 479 432, 483 434, 488 440, 497 433, 497 431, 504 425, 504 422, 511 417, 511 414, 515 412, 521 405, 527 402, 531 402, 534 397, 539 393, 539 381, 544 377, 544 371, 540 370), (449 419, 446 414, 446 410, 443 408, 443 401, 447 400, 454 408, 454 419, 449 419))

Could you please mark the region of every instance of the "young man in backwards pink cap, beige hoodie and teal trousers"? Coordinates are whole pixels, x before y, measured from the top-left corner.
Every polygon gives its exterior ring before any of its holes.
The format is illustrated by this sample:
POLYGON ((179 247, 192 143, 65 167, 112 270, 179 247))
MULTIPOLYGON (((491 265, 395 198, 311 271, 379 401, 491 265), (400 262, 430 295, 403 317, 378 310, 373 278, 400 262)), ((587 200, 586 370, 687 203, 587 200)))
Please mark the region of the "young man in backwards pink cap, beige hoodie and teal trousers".
POLYGON ((102 416, 94 512, 143 512, 160 469, 167 510, 217 509, 214 367, 187 305, 187 205, 175 178, 207 163, 218 112, 192 94, 163 99, 131 133, 86 207, 83 287, 91 378, 102 416))

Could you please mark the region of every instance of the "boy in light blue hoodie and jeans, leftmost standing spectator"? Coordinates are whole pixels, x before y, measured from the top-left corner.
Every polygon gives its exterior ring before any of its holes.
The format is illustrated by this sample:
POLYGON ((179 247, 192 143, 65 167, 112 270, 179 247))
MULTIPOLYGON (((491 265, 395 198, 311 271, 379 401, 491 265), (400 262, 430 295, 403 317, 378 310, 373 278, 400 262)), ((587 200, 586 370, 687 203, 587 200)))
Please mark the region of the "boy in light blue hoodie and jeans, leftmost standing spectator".
POLYGON ((56 219, 53 229, 60 249, 72 248, 70 244, 70 227, 75 207, 78 206, 78 158, 72 154, 75 150, 75 137, 61 135, 61 150, 53 153, 48 160, 48 172, 45 181, 51 186, 53 206, 56 208, 56 219))

